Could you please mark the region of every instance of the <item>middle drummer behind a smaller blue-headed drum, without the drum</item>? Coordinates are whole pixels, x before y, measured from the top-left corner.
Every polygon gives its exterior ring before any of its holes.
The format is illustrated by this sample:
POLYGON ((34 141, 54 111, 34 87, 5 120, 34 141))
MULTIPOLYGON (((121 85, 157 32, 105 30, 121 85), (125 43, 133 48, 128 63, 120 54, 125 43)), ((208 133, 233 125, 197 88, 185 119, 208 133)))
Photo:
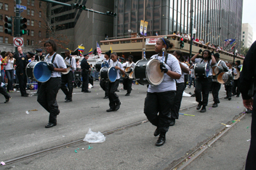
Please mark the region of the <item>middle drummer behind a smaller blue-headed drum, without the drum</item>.
POLYGON ((111 59, 113 62, 109 65, 109 67, 115 67, 116 71, 118 72, 116 75, 116 80, 114 82, 109 82, 109 89, 108 89, 108 95, 109 95, 109 111, 116 111, 120 108, 121 102, 119 100, 119 97, 116 95, 116 90, 119 85, 120 81, 120 73, 124 74, 124 68, 122 66, 122 63, 117 60, 117 54, 115 52, 111 53, 111 59))

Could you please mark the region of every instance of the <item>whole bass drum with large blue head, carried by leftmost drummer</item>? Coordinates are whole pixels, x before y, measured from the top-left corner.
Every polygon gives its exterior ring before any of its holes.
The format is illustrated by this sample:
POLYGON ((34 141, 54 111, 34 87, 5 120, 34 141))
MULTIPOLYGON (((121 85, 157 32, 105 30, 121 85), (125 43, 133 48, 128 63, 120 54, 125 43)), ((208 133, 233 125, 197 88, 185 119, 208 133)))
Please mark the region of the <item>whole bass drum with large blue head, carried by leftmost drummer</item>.
POLYGON ((51 70, 47 67, 47 62, 32 61, 26 66, 26 75, 30 80, 44 83, 51 78, 51 70))

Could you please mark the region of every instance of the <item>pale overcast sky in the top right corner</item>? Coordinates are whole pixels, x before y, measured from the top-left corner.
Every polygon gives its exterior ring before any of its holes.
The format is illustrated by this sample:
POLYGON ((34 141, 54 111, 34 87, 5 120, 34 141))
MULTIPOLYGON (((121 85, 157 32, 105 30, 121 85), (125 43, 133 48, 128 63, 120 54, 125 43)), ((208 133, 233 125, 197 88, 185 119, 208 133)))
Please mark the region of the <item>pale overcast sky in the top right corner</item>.
POLYGON ((243 0, 242 23, 249 23, 253 28, 253 42, 256 41, 256 0, 243 0))

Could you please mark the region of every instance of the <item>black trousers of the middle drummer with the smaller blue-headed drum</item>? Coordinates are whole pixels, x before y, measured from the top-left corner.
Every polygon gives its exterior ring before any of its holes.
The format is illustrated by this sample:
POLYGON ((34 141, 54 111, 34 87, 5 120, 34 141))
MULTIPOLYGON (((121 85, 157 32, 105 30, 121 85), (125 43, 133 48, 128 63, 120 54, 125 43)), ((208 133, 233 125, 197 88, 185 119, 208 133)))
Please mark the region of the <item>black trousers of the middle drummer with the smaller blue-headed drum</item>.
POLYGON ((109 89, 108 89, 109 107, 113 110, 115 110, 116 104, 120 103, 119 97, 116 94, 118 85, 119 85, 119 79, 114 81, 113 83, 109 82, 109 89))

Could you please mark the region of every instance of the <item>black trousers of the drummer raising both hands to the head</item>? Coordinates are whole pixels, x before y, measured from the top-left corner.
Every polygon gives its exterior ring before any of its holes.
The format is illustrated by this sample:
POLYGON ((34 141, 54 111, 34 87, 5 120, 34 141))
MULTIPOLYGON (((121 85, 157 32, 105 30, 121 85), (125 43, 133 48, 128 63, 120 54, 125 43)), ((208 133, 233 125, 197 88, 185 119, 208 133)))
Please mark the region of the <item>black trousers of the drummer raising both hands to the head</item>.
POLYGON ((208 104, 208 97, 209 97, 209 91, 211 89, 211 84, 212 84, 212 77, 196 78, 196 88, 195 88, 196 101, 198 103, 203 104, 204 106, 207 106, 208 104), (202 96, 203 96, 203 101, 202 101, 202 96))

